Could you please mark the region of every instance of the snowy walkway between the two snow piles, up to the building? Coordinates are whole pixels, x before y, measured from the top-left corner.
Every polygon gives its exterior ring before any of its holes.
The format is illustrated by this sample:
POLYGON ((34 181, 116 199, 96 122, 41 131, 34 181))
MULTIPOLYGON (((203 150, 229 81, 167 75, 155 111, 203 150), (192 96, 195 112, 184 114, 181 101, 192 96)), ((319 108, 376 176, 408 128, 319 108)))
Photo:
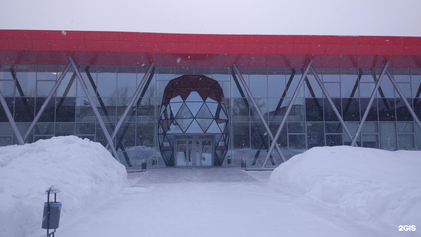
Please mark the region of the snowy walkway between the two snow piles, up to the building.
MULTIPOLYGON (((269 186, 270 171, 155 168, 68 223, 61 237, 391 235, 269 186)), ((36 236, 39 237, 39 236, 36 236)))

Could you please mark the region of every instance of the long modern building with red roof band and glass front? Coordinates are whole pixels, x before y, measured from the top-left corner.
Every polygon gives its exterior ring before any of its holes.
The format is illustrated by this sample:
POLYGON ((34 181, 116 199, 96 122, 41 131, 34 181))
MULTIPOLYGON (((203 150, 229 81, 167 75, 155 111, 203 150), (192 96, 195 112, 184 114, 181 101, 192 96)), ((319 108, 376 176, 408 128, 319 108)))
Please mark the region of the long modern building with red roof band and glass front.
POLYGON ((76 135, 128 167, 421 150, 421 37, 0 30, 0 91, 0 145, 76 135))

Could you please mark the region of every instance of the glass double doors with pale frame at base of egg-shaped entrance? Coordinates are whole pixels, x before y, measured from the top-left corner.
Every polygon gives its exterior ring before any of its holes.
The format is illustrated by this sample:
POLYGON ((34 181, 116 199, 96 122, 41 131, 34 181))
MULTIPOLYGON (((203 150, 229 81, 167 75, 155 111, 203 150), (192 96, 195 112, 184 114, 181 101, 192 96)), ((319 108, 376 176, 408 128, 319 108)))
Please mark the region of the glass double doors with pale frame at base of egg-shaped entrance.
POLYGON ((213 166, 213 134, 174 135, 175 166, 213 166))

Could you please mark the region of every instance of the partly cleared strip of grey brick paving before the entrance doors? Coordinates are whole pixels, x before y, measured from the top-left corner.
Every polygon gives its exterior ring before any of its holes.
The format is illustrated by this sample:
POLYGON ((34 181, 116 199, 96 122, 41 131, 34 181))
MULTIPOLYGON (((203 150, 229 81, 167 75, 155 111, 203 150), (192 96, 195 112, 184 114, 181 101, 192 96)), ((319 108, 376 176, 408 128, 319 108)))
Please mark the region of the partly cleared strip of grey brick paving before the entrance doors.
POLYGON ((240 167, 209 168, 153 168, 143 173, 128 173, 127 178, 133 186, 155 183, 189 183, 189 182, 221 182, 221 183, 256 183, 253 178, 240 167))

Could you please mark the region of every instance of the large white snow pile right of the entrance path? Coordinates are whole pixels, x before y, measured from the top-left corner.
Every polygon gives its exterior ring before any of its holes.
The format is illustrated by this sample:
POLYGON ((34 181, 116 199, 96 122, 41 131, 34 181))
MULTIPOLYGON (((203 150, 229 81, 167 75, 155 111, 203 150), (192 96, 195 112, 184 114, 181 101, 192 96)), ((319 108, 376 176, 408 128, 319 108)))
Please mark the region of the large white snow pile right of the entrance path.
POLYGON ((421 151, 315 147, 277 167, 269 183, 389 230, 421 226, 421 151))

